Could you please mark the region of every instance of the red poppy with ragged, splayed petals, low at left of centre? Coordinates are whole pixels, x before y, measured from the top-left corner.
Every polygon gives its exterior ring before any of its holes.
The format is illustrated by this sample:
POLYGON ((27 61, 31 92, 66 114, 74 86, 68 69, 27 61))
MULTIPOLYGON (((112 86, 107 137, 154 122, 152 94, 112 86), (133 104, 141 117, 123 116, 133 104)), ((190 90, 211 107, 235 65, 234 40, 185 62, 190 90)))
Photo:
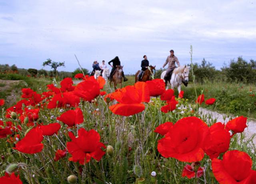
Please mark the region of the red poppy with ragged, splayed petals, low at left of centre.
POLYGON ((100 160, 105 152, 101 148, 106 146, 100 142, 100 134, 95 130, 87 132, 84 128, 78 130, 76 138, 72 132, 68 132, 71 142, 67 142, 68 152, 72 155, 70 161, 78 162, 82 165, 84 161, 89 162, 91 158, 100 160))

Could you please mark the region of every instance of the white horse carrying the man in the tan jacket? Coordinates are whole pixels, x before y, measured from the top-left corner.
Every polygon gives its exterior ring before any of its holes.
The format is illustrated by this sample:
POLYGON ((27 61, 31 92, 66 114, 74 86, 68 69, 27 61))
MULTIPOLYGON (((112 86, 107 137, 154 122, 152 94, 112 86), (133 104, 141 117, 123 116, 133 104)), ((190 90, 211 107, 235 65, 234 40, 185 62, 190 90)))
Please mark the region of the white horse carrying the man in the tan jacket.
MULTIPOLYGON (((180 87, 183 83, 185 86, 188 86, 188 75, 189 75, 190 67, 186 65, 177 67, 172 72, 171 80, 167 82, 166 90, 168 89, 168 83, 171 85, 172 89, 178 88, 180 93, 180 87)), ((164 80, 164 76, 166 71, 162 72, 161 79, 164 80)), ((165 81, 165 80, 164 80, 165 81)))

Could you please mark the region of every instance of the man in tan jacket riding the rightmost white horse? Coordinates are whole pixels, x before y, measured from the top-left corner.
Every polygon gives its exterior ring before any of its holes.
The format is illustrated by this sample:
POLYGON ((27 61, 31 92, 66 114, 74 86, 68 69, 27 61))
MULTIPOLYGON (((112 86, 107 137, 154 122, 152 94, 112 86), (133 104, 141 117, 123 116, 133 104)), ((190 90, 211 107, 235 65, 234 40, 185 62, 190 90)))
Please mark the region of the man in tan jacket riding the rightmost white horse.
POLYGON ((167 57, 166 62, 163 65, 163 68, 168 64, 168 68, 166 70, 166 74, 164 76, 165 86, 167 86, 167 82, 170 81, 172 77, 172 72, 176 68, 175 62, 180 66, 180 62, 176 56, 174 56, 174 50, 170 50, 170 56, 167 57))

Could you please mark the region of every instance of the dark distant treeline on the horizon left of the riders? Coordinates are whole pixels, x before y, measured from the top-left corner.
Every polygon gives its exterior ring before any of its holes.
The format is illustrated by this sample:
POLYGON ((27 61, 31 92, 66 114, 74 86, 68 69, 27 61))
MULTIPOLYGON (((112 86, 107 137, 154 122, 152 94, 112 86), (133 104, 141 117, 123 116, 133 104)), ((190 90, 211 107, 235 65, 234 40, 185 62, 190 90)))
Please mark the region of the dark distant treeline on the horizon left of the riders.
MULTIPOLYGON (((83 68, 84 74, 88 74, 89 71, 83 68)), ((18 68, 15 64, 9 66, 8 64, 0 64, 0 73, 2 74, 20 74, 22 76, 33 76, 33 77, 54 77, 54 71, 48 71, 44 69, 37 70, 35 68, 18 68)), ((76 74, 82 73, 80 68, 76 68, 74 72, 57 71, 56 76, 63 79, 66 77, 74 77, 76 74)))

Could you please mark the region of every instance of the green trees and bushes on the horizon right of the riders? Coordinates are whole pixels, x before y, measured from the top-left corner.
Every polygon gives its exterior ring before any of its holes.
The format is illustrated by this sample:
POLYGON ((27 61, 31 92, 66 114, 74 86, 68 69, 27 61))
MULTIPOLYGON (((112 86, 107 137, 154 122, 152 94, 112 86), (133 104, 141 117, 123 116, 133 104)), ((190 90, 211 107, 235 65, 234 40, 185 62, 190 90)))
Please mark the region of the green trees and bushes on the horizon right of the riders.
MULTIPOLYGON (((156 78, 160 78, 162 71, 162 68, 156 71, 156 78)), ((193 64, 193 72, 195 81, 200 83, 206 81, 256 83, 256 61, 248 62, 242 57, 231 60, 228 65, 224 64, 220 70, 216 70, 212 63, 203 59, 201 64, 193 64)), ((191 70, 189 78, 192 80, 191 70)))

